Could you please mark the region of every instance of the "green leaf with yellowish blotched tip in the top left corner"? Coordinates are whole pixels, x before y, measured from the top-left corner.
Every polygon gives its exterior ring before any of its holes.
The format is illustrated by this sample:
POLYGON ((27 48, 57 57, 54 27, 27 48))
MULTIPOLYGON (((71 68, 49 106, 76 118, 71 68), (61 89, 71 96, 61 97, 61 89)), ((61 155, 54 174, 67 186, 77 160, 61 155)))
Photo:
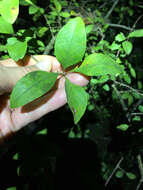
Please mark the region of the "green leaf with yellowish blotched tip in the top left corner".
POLYGON ((0 14, 10 24, 13 24, 19 13, 19 0, 2 0, 0 14))

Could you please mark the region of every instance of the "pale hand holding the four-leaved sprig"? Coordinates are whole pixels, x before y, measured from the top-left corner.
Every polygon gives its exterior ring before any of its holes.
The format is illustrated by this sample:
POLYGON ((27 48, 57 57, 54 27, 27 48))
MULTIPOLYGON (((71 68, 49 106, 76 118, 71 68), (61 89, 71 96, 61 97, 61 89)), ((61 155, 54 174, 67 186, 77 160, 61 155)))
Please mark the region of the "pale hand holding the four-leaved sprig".
MULTIPOLYGON (((23 107, 10 108, 9 94, 22 76, 35 70, 62 72, 62 66, 55 57, 38 55, 35 58, 40 62, 42 61, 42 63, 36 64, 36 61, 30 56, 21 60, 24 65, 22 67, 19 66, 21 61, 18 63, 11 59, 0 61, 0 140, 2 141, 22 127, 62 107, 67 102, 64 78, 59 77, 55 88, 50 93, 23 107)), ((88 83, 87 77, 77 73, 67 74, 67 77, 70 81, 80 86, 88 83)))

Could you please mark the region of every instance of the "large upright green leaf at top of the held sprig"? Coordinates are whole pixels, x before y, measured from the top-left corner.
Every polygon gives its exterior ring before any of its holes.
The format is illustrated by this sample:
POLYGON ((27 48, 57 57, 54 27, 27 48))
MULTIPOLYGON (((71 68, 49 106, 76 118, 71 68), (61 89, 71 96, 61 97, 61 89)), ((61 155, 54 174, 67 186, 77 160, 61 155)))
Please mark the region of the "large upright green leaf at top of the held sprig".
POLYGON ((55 52, 58 61, 64 68, 82 60, 86 49, 86 31, 80 17, 71 19, 58 33, 55 52))

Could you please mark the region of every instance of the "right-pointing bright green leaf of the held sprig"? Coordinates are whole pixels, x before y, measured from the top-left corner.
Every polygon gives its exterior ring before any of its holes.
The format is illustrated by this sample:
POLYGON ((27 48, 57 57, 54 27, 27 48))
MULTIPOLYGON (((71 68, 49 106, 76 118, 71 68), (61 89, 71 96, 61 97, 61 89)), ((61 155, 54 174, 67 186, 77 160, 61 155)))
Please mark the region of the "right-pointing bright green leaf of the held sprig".
POLYGON ((117 76, 123 72, 123 68, 108 55, 94 53, 89 55, 78 68, 72 72, 79 72, 87 76, 112 75, 117 76))

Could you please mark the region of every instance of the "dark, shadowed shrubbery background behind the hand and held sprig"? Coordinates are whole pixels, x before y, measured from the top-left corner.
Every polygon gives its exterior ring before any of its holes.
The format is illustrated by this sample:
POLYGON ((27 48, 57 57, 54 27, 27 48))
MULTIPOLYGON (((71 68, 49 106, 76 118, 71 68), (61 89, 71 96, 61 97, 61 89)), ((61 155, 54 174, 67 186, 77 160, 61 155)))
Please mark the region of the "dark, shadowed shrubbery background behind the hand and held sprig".
POLYGON ((10 38, 27 42, 23 54, 53 55, 57 32, 80 16, 86 24, 87 54, 107 53, 125 72, 116 80, 90 80, 88 109, 78 125, 64 106, 1 145, 0 189, 142 189, 143 32, 128 36, 142 29, 142 1, 29 2, 20 0, 14 33, 0 33, 1 59, 16 55, 8 48, 10 38))

